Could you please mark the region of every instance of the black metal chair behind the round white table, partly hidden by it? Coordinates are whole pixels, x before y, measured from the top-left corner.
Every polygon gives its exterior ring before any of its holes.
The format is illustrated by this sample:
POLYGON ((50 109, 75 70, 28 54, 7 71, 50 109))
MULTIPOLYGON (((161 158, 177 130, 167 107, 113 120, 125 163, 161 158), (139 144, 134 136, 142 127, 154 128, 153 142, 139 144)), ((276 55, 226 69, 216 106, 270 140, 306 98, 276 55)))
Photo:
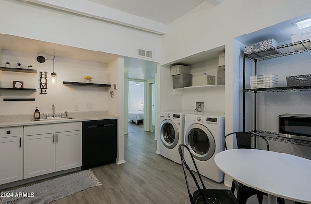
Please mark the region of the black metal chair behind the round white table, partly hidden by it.
MULTIPOLYGON (((263 139, 266 144, 266 150, 269 151, 269 143, 268 140, 256 133, 250 133, 250 132, 243 132, 243 131, 238 131, 238 132, 233 132, 229 133, 228 135, 225 136, 224 142, 225 142, 225 149, 227 150, 227 143, 226 143, 226 138, 228 136, 232 136, 236 139, 237 147, 238 149, 245 148, 245 149, 256 149, 256 147, 252 146, 252 137, 253 138, 259 138, 263 139)), ((246 201, 249 197, 256 195, 257 200, 259 204, 262 204, 263 196, 268 196, 267 193, 261 192, 259 190, 256 190, 254 188, 248 187, 244 184, 241 184, 235 180, 232 181, 232 186, 231 186, 231 192, 234 193, 235 189, 237 189, 237 199, 239 204, 246 204, 246 201)), ((285 200, 283 198, 277 198, 277 202, 279 204, 285 204, 285 200)))

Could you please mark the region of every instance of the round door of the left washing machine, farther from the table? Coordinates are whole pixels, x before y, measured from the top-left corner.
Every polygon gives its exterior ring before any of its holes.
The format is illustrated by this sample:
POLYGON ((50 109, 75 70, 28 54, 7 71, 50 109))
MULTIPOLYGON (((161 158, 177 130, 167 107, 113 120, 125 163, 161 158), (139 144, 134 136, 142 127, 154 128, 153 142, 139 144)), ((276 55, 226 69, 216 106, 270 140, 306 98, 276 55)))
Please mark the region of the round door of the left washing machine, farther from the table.
POLYGON ((165 119, 160 125, 160 138, 162 144, 172 149, 176 147, 179 139, 177 125, 170 119, 165 119))

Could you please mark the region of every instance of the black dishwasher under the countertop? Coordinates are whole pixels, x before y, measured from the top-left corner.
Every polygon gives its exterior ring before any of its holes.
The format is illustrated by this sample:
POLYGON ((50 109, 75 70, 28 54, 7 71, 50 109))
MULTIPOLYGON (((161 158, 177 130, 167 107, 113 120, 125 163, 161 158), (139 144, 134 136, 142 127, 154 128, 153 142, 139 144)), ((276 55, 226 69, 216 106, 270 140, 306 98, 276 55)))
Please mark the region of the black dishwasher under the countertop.
POLYGON ((82 122, 82 169, 116 162, 117 119, 82 122))

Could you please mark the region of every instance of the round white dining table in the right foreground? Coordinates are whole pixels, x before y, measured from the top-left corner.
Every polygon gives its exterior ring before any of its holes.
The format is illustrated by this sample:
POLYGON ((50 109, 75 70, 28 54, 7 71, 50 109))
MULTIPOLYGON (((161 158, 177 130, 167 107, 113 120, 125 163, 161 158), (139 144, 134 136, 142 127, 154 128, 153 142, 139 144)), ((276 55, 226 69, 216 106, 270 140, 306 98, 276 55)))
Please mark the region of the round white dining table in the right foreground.
POLYGON ((215 163, 234 180, 277 197, 311 204, 311 160, 257 149, 232 149, 217 153, 215 163))

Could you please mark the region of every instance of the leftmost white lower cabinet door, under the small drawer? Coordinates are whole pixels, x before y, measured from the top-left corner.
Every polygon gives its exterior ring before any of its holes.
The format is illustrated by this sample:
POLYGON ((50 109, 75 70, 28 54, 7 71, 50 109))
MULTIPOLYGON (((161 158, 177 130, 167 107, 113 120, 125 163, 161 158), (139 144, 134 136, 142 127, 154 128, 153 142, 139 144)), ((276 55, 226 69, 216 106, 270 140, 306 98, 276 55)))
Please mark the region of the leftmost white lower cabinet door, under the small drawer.
POLYGON ((23 136, 0 138, 0 185, 23 179, 23 136))

